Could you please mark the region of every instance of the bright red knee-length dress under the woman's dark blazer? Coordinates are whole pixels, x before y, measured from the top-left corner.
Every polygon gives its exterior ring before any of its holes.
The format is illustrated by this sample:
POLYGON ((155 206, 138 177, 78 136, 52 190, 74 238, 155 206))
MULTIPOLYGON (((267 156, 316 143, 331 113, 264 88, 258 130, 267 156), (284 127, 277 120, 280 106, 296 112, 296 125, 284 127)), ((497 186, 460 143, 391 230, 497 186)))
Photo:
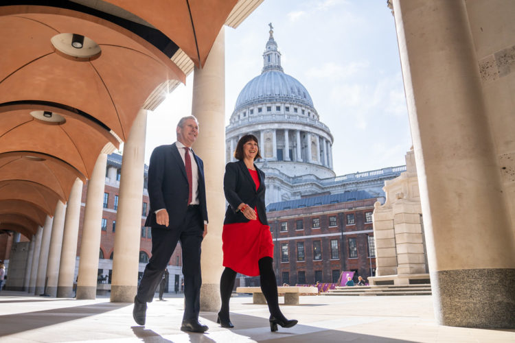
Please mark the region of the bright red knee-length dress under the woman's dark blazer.
MULTIPOLYGON (((260 187, 257 170, 249 169, 260 187)), ((257 211, 256 211, 257 214, 257 211)), ((247 276, 258 276, 258 261, 262 257, 273 258, 273 241, 270 226, 263 225, 258 217, 247 223, 225 224, 222 232, 223 266, 247 276)))

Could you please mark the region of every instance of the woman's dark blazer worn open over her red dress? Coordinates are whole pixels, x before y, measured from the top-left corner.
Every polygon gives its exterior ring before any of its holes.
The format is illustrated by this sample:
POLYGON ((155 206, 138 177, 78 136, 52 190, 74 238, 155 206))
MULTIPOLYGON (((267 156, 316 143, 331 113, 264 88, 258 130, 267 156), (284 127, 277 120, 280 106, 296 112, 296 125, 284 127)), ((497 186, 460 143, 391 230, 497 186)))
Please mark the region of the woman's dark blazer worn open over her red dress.
POLYGON ((224 224, 246 223, 249 220, 238 211, 238 206, 243 202, 252 208, 258 209, 258 216, 264 225, 268 225, 266 220, 266 206, 264 204, 264 172, 258 167, 260 187, 255 189, 251 173, 243 161, 229 162, 225 165, 224 193, 225 199, 229 202, 225 212, 224 224))

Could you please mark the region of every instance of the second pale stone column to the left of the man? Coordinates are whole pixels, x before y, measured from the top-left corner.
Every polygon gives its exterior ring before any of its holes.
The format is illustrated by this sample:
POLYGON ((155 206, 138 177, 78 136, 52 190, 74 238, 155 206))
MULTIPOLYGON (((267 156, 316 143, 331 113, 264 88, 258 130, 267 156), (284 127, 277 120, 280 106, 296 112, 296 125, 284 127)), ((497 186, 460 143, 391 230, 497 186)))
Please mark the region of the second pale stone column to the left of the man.
POLYGON ((88 182, 80 243, 77 299, 95 299, 97 294, 98 252, 100 251, 106 164, 107 154, 101 152, 88 182))

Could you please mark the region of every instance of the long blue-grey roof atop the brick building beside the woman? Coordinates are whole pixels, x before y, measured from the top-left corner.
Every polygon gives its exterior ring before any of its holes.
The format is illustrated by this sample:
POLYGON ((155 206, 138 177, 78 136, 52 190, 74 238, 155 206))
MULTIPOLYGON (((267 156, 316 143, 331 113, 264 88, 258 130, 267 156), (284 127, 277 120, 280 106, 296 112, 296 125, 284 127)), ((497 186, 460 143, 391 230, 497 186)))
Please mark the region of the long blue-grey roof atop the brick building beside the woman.
POLYGON ((347 191, 338 194, 325 196, 314 196, 310 198, 273 202, 266 206, 266 212, 283 211, 288 209, 301 209, 303 207, 338 204, 339 202, 350 202, 354 200, 373 199, 367 191, 347 191))

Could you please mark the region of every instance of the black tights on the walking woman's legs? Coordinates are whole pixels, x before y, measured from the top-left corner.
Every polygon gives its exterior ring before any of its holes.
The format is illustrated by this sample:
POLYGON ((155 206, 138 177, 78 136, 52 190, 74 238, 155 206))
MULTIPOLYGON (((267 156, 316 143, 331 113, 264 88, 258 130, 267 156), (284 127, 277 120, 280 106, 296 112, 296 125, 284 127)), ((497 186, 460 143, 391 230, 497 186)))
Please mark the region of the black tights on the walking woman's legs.
MULTIPOLYGON (((264 298, 266 298, 268 311, 275 318, 286 319, 279 309, 277 281, 275 281, 275 273, 273 272, 273 259, 271 257, 263 257, 258 261, 258 266, 260 268, 261 290, 264 298)), ((231 298, 235 281, 236 272, 226 267, 220 279, 220 297, 222 298, 220 314, 227 318, 229 318, 229 299, 231 298)))

